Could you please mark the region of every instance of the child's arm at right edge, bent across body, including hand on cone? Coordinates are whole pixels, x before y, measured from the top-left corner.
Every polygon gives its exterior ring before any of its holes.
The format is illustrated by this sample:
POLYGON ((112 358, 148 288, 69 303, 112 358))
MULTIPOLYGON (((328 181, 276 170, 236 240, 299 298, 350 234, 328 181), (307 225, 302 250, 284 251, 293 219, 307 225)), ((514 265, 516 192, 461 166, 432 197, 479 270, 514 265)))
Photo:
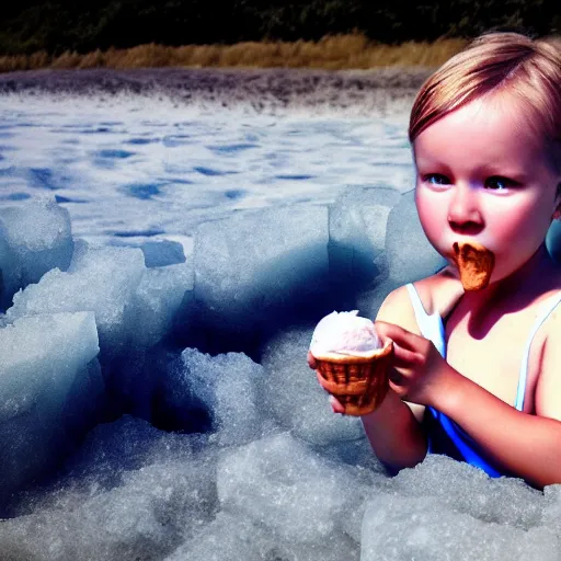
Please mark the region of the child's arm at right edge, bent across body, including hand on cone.
MULTIPOLYGON (((536 415, 530 415, 462 376, 423 337, 398 325, 385 323, 379 328, 394 342, 394 364, 401 377, 393 388, 401 398, 442 411, 490 458, 536 486, 561 483, 559 345, 551 341, 546 344, 536 389, 536 415)), ((549 333, 559 333, 560 328, 561 318, 549 323, 549 333)))

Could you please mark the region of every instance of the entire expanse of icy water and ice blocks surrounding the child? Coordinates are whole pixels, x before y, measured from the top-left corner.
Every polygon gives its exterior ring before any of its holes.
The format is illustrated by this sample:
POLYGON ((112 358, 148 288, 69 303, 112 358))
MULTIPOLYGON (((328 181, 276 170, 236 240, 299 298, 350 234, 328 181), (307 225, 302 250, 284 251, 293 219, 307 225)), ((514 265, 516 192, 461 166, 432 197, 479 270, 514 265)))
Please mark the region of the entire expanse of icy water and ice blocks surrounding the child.
POLYGON ((0 559, 561 559, 561 485, 436 456, 391 478, 306 364, 322 316, 442 265, 413 90, 146 76, 0 83, 0 559))

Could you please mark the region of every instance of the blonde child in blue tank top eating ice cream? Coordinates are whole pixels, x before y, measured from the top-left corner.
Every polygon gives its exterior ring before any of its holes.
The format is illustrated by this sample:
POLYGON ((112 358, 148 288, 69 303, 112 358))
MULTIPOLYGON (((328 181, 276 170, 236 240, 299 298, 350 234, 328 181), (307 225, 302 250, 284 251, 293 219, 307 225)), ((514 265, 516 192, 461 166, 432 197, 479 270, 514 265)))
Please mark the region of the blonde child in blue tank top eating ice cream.
POLYGON ((545 247, 561 216, 560 50, 485 34, 414 101, 415 203, 449 265, 390 293, 376 318, 394 344, 390 391, 362 420, 396 469, 428 450, 492 477, 561 483, 561 267, 545 247), (463 288, 461 242, 494 255, 486 286, 463 288))

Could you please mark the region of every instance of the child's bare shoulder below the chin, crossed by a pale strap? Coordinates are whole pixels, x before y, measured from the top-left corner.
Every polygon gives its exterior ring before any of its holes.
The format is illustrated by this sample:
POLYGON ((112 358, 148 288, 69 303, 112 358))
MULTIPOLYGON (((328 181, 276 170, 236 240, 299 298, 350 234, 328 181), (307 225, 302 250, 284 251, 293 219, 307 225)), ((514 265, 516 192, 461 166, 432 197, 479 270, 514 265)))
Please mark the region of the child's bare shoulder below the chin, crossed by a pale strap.
MULTIPOLYGON (((442 317, 448 316, 463 294, 459 278, 449 266, 412 284, 428 314, 436 311, 442 317)), ((388 294, 378 310, 376 319, 396 323, 413 333, 421 334, 405 285, 388 294)))

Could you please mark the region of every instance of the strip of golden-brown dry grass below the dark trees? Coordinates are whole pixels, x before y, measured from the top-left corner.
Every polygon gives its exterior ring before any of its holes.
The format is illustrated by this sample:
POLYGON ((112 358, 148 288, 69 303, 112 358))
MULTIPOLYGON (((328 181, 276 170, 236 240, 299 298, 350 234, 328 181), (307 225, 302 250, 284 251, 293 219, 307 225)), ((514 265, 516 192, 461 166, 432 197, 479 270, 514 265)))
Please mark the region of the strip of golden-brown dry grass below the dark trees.
POLYGON ((142 67, 253 67, 253 68, 379 68, 388 66, 439 66, 465 45, 465 39, 434 43, 409 42, 389 46, 370 43, 364 35, 325 36, 318 42, 238 43, 230 46, 139 45, 110 48, 87 55, 66 51, 58 57, 46 53, 0 57, 0 72, 38 68, 142 68, 142 67))

